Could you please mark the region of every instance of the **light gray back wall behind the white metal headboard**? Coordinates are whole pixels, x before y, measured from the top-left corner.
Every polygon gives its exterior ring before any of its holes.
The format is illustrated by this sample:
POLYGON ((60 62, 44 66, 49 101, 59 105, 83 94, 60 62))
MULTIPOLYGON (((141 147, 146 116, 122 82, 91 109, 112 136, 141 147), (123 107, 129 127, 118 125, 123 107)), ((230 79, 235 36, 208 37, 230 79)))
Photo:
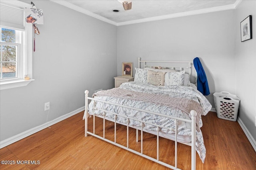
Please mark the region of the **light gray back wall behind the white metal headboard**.
MULTIPOLYGON (((118 70, 122 62, 193 61, 199 57, 213 93, 235 92, 234 10, 118 26, 118 70)), ((134 72, 135 73, 135 72, 134 72)))

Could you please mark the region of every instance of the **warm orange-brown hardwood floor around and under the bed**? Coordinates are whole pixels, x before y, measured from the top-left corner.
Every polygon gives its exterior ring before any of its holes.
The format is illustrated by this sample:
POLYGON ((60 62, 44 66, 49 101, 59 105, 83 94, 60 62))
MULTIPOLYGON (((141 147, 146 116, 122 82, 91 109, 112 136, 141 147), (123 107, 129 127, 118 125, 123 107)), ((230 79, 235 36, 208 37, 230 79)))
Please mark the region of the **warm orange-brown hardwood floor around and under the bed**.
MULTIPOLYGON (((88 135, 84 137, 83 112, 52 125, 25 139, 0 149, 0 160, 15 164, 0 164, 1 170, 165 170, 168 169, 132 152, 88 135), (18 162, 17 162, 18 161, 18 162), (20 161, 20 162, 19 162, 20 161), (28 162, 25 162, 28 161, 28 162), (39 162, 38 162, 39 161, 39 162), (20 163, 20 164, 17 164, 20 163)), ((92 129, 92 118, 88 129, 92 129)), ((218 119, 216 113, 202 116, 206 159, 204 164, 196 155, 197 170, 256 170, 256 152, 238 122, 218 119)), ((96 119, 102 124, 102 119, 96 119)), ((114 131, 107 122, 107 135, 114 131)), ((102 126, 99 126, 102 127, 102 126)), ((126 146, 126 127, 117 126, 117 143, 126 146)), ((98 128, 96 133, 101 134, 98 128)), ((129 128, 129 145, 140 151, 135 141, 135 130, 129 128)), ((144 133, 144 154, 156 155, 156 137, 144 133), (147 148, 147 149, 146 149, 147 148)), ((163 162, 174 163, 174 142, 160 138, 160 155, 163 162)), ((178 144, 178 168, 190 169, 190 147, 178 144)))

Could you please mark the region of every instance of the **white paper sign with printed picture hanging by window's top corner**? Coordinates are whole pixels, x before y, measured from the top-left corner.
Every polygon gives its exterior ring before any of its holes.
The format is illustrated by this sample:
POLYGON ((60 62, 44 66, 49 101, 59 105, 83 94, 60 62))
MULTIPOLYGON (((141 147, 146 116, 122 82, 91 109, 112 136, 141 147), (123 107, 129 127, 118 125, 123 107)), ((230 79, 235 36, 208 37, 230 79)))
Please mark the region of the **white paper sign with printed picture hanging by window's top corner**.
POLYGON ((44 24, 43 10, 36 8, 25 8, 25 17, 27 23, 44 24))

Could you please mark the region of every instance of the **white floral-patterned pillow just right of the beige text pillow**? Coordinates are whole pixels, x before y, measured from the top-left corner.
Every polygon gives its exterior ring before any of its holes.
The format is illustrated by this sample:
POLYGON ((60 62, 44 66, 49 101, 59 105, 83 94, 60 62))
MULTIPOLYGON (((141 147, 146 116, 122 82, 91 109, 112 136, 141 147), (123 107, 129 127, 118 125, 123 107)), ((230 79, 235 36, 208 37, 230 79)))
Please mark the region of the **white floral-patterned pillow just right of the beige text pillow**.
POLYGON ((184 84, 185 71, 179 72, 166 72, 164 77, 164 86, 180 85, 184 84))

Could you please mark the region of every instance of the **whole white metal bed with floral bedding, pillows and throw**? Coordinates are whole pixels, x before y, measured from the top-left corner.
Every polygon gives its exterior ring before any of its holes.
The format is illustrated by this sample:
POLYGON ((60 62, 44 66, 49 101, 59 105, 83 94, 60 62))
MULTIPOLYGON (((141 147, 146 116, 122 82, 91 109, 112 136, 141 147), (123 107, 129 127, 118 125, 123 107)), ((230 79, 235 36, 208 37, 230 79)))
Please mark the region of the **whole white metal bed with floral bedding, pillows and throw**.
MULTIPOLYGON (((202 127, 201 115, 206 115, 211 109, 208 100, 196 90, 196 86, 190 83, 192 77, 192 62, 163 62, 163 61, 138 61, 144 63, 144 68, 136 68, 134 82, 126 82, 121 84, 119 88, 110 90, 102 90, 96 92, 93 98, 88 98, 86 94, 86 110, 85 119, 85 136, 88 134, 98 137, 104 141, 108 141, 118 147, 139 154, 145 158, 158 162, 168 168, 177 168, 177 154, 175 154, 175 165, 169 165, 159 161, 159 153, 157 158, 152 158, 129 148, 127 135, 127 146, 124 147, 116 143, 116 134, 114 141, 105 139, 105 129, 103 128, 103 137, 93 132, 88 132, 88 113, 102 117, 106 120, 126 125, 128 127, 152 133, 177 142, 190 145, 192 169, 196 167, 196 151, 198 152, 202 162, 204 162, 206 149, 200 127, 202 127), (165 69, 155 69, 156 66, 149 66, 147 63, 174 64, 174 66, 164 66, 165 69), (177 65, 179 64, 179 65, 177 65), (188 64, 187 66, 184 64, 188 64), (179 69, 175 71, 173 69, 179 69), (186 76, 185 76, 186 72, 186 76), (164 76, 163 76, 164 74, 164 76), (164 78, 164 84, 162 79, 164 78), (150 79, 150 80, 149 80, 150 79), (184 81, 185 79, 185 81, 184 81), (150 82, 150 83, 148 83, 150 82), (153 85, 153 84, 154 85, 153 85), (158 85, 164 86, 158 86, 158 85), (88 105, 88 99, 92 100, 88 105)), ((163 68, 163 66, 159 67, 163 68)), ((95 121, 94 121, 95 122, 95 121)), ((94 125, 95 126, 95 125, 94 125)), ((95 127, 94 127, 95 129, 95 127)), ((115 130, 116 133, 116 130, 115 130)), ((127 133, 128 134, 128 133, 127 133)), ((143 146, 143 133, 141 133, 141 148, 143 146)), ((159 145, 157 146, 159 150, 159 145)))

